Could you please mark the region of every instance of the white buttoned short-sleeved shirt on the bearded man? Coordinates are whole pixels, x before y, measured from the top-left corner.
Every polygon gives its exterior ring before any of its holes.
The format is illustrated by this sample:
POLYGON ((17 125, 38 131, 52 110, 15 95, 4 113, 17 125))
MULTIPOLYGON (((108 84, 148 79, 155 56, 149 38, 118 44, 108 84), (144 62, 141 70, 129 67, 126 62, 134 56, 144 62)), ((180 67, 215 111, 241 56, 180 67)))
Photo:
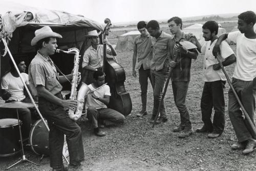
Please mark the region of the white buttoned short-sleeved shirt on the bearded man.
MULTIPOLYGON (((212 82, 212 81, 226 81, 225 74, 222 70, 215 71, 213 66, 218 62, 217 58, 212 55, 212 49, 217 42, 217 39, 214 40, 211 44, 211 41, 206 41, 205 44, 201 48, 201 53, 204 54, 204 64, 203 64, 203 80, 205 82, 212 82)), ((220 45, 221 49, 221 56, 222 61, 226 59, 228 56, 234 54, 230 46, 227 44, 226 41, 222 41, 220 45)))

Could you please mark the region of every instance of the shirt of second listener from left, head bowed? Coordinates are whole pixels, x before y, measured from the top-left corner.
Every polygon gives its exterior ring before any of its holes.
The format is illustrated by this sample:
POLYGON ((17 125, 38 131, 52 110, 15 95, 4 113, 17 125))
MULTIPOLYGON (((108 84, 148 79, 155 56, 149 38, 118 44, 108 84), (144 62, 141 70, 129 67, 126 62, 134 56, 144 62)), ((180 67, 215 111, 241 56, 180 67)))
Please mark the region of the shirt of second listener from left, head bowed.
POLYGON ((170 42, 172 39, 172 36, 163 31, 157 39, 151 37, 153 57, 150 68, 152 70, 159 71, 164 68, 166 59, 170 58, 170 42))

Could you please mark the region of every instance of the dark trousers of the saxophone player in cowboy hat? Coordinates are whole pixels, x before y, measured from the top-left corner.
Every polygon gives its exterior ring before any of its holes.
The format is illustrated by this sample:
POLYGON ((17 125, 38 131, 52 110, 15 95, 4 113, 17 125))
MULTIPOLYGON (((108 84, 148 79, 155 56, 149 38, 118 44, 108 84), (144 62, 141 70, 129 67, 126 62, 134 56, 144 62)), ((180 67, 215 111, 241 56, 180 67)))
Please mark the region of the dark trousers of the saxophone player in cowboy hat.
MULTIPOLYGON (((60 93, 56 95, 61 98, 60 93)), ((62 167, 62 149, 64 134, 69 149, 70 165, 77 166, 84 160, 81 129, 78 124, 71 120, 63 107, 53 104, 44 98, 39 98, 38 106, 41 114, 47 119, 50 147, 50 166, 62 167)))

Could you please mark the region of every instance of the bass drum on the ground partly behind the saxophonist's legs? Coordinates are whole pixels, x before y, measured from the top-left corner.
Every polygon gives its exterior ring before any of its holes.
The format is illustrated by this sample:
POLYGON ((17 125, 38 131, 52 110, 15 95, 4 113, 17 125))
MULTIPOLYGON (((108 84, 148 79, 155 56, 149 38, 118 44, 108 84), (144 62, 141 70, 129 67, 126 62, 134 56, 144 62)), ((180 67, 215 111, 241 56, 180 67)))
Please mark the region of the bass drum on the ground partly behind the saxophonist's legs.
MULTIPOLYGON (((47 123, 47 120, 45 120, 47 123)), ((29 134, 29 143, 31 145, 31 149, 35 154, 37 155, 44 155, 49 156, 50 150, 49 150, 49 132, 47 130, 46 125, 44 122, 42 122, 41 119, 37 120, 33 125, 32 129, 29 134)), ((69 151, 68 151, 68 145, 66 142, 66 136, 65 141, 63 145, 63 154, 68 157, 69 151)))

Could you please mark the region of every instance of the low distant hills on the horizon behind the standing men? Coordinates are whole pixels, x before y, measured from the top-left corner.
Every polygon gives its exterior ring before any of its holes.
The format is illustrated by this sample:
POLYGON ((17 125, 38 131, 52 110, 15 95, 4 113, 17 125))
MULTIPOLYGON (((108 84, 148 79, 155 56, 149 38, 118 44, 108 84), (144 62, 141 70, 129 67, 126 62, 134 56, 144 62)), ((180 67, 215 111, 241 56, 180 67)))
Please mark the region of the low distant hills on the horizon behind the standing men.
MULTIPOLYGON (((236 20, 239 13, 228 13, 228 14, 212 14, 212 15, 201 15, 201 16, 191 16, 191 17, 182 17, 183 22, 203 22, 206 20, 236 20)), ((159 19, 158 22, 166 23, 167 19, 159 19)), ((138 21, 134 22, 119 22, 114 23, 114 27, 129 27, 137 25, 138 21)))

